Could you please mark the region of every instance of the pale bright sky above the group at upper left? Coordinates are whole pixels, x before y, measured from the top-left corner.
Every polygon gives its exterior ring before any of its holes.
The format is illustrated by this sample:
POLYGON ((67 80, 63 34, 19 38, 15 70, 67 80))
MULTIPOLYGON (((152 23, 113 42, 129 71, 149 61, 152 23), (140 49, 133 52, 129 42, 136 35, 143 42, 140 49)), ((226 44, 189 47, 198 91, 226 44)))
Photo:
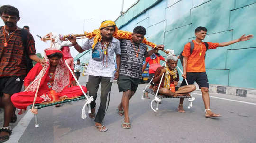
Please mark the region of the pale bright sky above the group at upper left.
MULTIPOLYGON (((124 11, 137 0, 124 0, 124 11)), ((50 42, 43 42, 36 35, 49 32, 56 34, 83 34, 100 27, 104 20, 115 21, 120 16, 122 0, 0 0, 1 5, 12 5, 19 10, 18 27, 28 25, 35 39, 37 53, 49 48, 50 42)), ((4 23, 0 20, 0 26, 4 23)), ((85 40, 77 42, 82 45, 85 40)), ((71 47, 75 57, 78 52, 71 47)))

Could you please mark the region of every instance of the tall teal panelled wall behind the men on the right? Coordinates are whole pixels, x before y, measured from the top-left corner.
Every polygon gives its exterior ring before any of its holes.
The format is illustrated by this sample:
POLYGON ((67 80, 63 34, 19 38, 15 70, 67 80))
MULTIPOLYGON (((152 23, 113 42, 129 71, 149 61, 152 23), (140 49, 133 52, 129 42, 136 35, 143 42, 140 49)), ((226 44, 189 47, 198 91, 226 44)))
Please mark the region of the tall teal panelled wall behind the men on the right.
MULTIPOLYGON (((116 24, 127 31, 144 26, 147 39, 180 53, 184 44, 195 38, 198 26, 207 27, 207 42, 256 35, 256 0, 139 0, 116 24)), ((256 38, 208 50, 205 64, 209 83, 256 88, 255 55, 256 38)), ((180 63, 178 66, 182 67, 180 63)))

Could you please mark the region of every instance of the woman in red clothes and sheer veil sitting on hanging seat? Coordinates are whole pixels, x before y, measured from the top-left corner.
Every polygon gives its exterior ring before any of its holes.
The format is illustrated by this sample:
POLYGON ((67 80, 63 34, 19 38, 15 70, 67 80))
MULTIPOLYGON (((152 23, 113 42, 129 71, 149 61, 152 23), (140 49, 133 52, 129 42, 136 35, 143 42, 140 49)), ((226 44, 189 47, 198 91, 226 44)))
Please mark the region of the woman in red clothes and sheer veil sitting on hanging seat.
MULTIPOLYGON (((45 60, 45 67, 37 63, 25 77, 25 91, 12 95, 11 101, 16 108, 26 110, 28 105, 33 104, 41 76, 35 103, 54 102, 63 98, 83 95, 79 86, 69 87, 72 75, 64 63, 64 57, 60 50, 46 49, 45 60)), ((85 86, 82 86, 82 89, 87 92, 85 86)))

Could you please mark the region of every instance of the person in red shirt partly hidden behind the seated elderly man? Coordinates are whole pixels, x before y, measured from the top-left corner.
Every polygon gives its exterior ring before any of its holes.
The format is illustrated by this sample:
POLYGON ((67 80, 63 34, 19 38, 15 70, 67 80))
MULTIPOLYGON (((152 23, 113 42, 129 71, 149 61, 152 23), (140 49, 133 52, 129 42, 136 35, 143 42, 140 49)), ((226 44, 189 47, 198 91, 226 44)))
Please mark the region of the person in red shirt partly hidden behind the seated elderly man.
MULTIPOLYGON (((151 79, 154 77, 155 75, 155 71, 158 67, 161 67, 160 65, 160 60, 165 61, 165 58, 163 56, 161 56, 158 53, 159 50, 156 50, 155 53, 153 53, 150 57, 146 57, 145 60, 145 64, 142 67, 142 73, 144 72, 147 63, 149 63, 149 69, 148 69, 148 73, 149 73, 149 78, 148 80, 151 81, 151 79)), ((149 88, 152 88, 154 85, 151 82, 151 85, 149 88)), ((149 99, 148 97, 148 92, 145 93, 145 97, 149 99)))

